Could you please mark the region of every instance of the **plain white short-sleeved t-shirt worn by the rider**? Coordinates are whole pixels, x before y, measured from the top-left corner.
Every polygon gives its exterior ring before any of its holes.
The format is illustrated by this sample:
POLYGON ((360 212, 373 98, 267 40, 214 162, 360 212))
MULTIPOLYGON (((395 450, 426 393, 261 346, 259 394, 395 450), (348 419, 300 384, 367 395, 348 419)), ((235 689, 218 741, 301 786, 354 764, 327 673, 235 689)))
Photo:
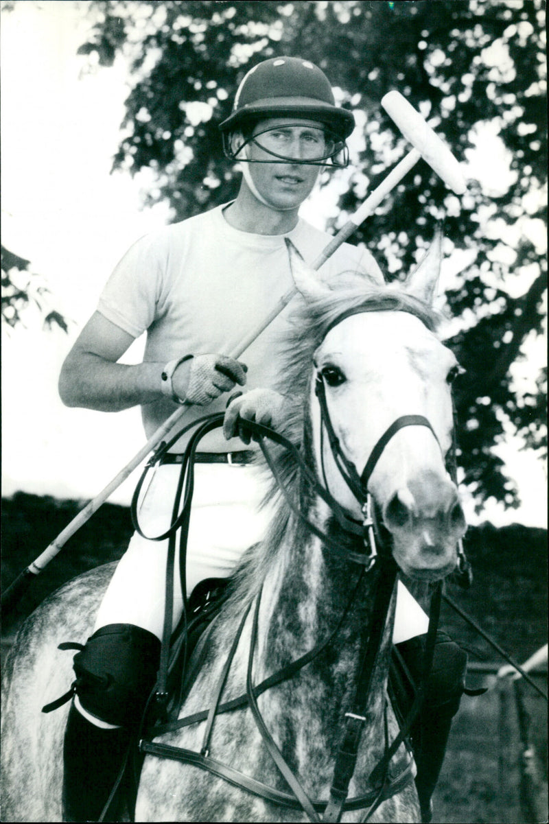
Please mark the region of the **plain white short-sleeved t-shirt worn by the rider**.
MULTIPOLYGON (((106 283, 98 311, 134 338, 147 332, 145 362, 167 363, 187 353, 232 355, 293 285, 284 238, 289 237, 307 263, 331 240, 302 219, 285 235, 241 232, 223 217, 227 205, 142 237, 106 283)), ((340 246, 321 272, 330 278, 350 269, 381 277, 372 255, 350 244, 340 246)), ((291 302, 239 358, 248 367, 245 391, 274 385, 277 349, 290 311, 291 302)), ((226 402, 227 396, 221 396, 207 412, 224 410, 226 402)), ((148 438, 175 409, 168 399, 143 406, 148 438)), ((185 423, 205 411, 190 407, 185 423)), ((181 451, 184 442, 172 450, 181 451)), ((242 441, 227 442, 216 430, 204 438, 199 450, 227 452, 242 447, 242 441)))

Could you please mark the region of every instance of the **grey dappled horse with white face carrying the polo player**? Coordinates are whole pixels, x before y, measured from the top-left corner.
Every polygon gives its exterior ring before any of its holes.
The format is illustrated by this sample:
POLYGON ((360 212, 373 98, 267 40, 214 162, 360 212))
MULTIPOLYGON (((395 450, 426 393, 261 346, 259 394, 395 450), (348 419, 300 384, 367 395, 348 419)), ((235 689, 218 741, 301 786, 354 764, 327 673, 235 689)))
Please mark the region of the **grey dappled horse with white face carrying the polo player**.
MULTIPOLYGON (((365 628, 373 625, 382 567, 379 559, 364 561, 371 547, 365 549, 363 532, 351 528, 362 525, 365 503, 357 483, 351 482, 353 469, 354 480, 360 481, 372 452, 379 453, 367 481, 368 494, 378 531, 390 536, 392 557, 408 578, 428 585, 451 572, 457 541, 465 531, 457 489, 445 465, 453 430, 449 384, 457 363, 434 333, 437 318, 431 303, 439 262, 438 239, 406 283, 386 285, 346 275, 329 289, 292 254, 303 297, 279 388, 303 397, 303 414, 292 413, 283 431, 294 443, 301 442, 312 473, 303 471, 291 453, 275 457, 275 468, 301 515, 280 496, 265 541, 243 557, 232 595, 213 620, 204 663, 180 718, 212 705, 239 626, 222 703, 246 694, 246 678, 251 686, 259 684, 326 639, 330 643, 293 677, 262 692, 257 712, 246 705, 214 719, 208 752, 201 757, 267 785, 269 798, 198 765, 149 754, 141 773, 136 821, 321 817, 317 802, 330 795, 341 724, 352 706, 359 650, 367 644, 365 628), (416 423, 410 415, 418 416, 416 423), (403 419, 406 425, 393 427, 403 419), (382 447, 377 447, 380 439, 382 447), (262 724, 266 736, 260 732, 262 724), (266 742, 269 737, 274 748, 266 742), (275 763, 276 750, 293 776, 292 792, 284 768, 275 763), (277 793, 291 796, 302 790, 305 801, 297 808, 273 800, 277 793)), ((72 655, 58 651, 57 645, 67 640, 85 643, 110 572, 108 567, 95 569, 49 597, 26 620, 12 648, 2 713, 4 820, 61 820, 68 705, 47 715, 40 709, 73 681, 72 655)), ((387 700, 394 590, 387 600, 387 622, 370 674, 366 721, 349 785, 349 798, 364 796, 367 803, 359 810, 344 808, 343 821, 364 820, 368 807, 374 808, 371 821, 420 821, 411 756, 404 744, 385 775, 389 797, 377 808, 370 779, 386 741, 398 732, 387 700), (408 780, 399 783, 402 775, 408 780)), ((162 733, 154 742, 199 753, 205 724, 201 720, 162 733)))

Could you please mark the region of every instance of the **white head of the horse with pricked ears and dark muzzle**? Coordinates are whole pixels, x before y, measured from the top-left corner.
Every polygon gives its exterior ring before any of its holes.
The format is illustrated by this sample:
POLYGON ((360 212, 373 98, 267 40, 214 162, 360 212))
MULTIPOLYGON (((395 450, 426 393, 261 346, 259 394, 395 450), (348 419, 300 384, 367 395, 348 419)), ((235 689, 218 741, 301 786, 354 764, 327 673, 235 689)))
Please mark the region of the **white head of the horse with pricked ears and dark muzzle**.
POLYGON ((459 367, 434 335, 430 306, 440 246, 437 237, 398 288, 347 279, 345 288, 329 290, 297 255, 292 260, 299 290, 322 319, 310 390, 319 477, 355 518, 364 503, 361 481, 392 536, 397 564, 427 581, 453 570, 466 529, 446 468, 459 367))

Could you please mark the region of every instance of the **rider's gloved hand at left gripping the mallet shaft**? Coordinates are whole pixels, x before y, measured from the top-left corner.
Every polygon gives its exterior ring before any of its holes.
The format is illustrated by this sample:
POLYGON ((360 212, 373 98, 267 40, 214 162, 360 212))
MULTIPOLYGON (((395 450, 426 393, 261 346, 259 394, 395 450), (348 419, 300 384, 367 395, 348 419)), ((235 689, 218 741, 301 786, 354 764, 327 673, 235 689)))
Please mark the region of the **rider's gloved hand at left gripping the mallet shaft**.
POLYGON ((236 384, 246 383, 245 363, 225 355, 204 354, 181 363, 171 377, 178 398, 190 404, 206 405, 236 384))

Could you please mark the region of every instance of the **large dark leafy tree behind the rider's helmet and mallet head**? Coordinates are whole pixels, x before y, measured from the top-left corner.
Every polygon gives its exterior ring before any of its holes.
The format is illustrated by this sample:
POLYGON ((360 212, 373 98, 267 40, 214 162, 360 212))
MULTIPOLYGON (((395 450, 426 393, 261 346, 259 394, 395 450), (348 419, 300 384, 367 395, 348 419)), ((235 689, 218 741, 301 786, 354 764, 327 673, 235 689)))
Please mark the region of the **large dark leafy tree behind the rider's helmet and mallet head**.
POLYGON ((491 129, 495 145, 509 152, 509 182, 500 190, 472 181, 458 199, 420 163, 353 242, 373 250, 389 278, 413 265, 440 219, 447 252, 476 250, 447 295, 448 311, 462 319, 451 344, 467 368, 456 390, 458 461, 479 508, 489 496, 518 506, 493 447, 510 426, 529 448, 547 448, 545 377, 528 392, 513 383, 524 342, 542 332, 547 278, 529 232, 546 222, 542 0, 92 0, 90 12, 95 22, 80 53, 104 66, 123 53, 133 83, 114 167, 155 170, 157 188, 147 199, 167 199, 174 219, 235 196, 239 176, 223 157, 218 124, 246 70, 276 54, 320 65, 363 128, 333 228, 406 151, 379 103, 387 91, 397 88, 428 116, 459 159, 491 129), (516 295, 518 276, 530 285, 516 295))

